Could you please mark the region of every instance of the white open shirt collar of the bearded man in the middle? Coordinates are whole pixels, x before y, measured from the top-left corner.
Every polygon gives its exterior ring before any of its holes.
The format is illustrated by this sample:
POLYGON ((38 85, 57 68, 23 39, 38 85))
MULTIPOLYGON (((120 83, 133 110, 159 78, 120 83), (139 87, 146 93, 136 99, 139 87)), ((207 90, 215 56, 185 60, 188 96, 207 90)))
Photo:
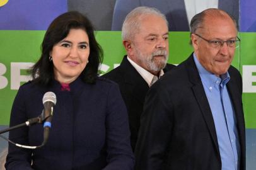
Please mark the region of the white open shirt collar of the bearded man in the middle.
MULTIPOLYGON (((153 80, 154 74, 151 74, 150 72, 143 69, 143 67, 139 66, 127 56, 127 60, 132 64, 132 66, 136 69, 137 72, 143 77, 143 79, 148 83, 148 86, 150 86, 151 81, 153 80)), ((163 70, 160 71, 160 77, 163 76, 164 72, 163 70)))

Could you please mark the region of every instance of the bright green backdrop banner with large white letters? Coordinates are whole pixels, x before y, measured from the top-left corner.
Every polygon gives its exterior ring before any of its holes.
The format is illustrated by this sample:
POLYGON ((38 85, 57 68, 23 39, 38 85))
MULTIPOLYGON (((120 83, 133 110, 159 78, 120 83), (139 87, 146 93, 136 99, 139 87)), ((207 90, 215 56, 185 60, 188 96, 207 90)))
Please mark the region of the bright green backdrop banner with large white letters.
MULTIPOLYGON (((0 125, 9 124, 13 99, 21 84, 30 76, 27 69, 40 57, 40 44, 45 31, 0 31, 0 125)), ((125 55, 120 31, 96 31, 96 39, 103 48, 102 74, 117 67, 125 55)), ((243 74, 243 106, 247 128, 256 128, 256 33, 240 33, 232 65, 243 74), (243 42, 243 40, 245 42, 243 42), (254 64, 254 65, 253 65, 254 64)), ((189 32, 171 32, 168 62, 179 64, 193 49, 189 32)))

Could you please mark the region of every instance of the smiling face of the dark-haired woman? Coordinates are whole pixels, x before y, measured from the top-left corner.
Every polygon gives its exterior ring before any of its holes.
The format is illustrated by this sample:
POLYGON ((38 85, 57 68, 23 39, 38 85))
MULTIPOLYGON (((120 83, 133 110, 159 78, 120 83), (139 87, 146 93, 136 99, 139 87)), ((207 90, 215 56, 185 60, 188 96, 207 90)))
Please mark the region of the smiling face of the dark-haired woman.
POLYGON ((54 76, 59 82, 73 82, 84 70, 90 54, 89 38, 82 29, 71 29, 66 38, 54 45, 50 56, 54 76))

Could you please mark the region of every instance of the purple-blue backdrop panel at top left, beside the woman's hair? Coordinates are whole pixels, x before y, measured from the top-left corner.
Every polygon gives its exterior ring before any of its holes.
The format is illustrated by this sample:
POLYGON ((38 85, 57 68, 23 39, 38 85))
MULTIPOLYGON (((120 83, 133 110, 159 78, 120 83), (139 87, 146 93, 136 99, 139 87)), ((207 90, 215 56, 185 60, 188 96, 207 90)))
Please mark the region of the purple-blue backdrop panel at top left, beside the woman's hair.
POLYGON ((0 7, 0 30, 47 30, 67 11, 67 0, 9 0, 0 7))

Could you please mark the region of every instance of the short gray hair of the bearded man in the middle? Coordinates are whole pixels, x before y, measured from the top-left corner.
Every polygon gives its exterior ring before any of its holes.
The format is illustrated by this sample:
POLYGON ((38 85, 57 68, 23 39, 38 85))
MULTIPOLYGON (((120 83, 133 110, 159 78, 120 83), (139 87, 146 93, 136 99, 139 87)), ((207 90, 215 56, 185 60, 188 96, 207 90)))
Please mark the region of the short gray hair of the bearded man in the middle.
POLYGON ((160 18, 166 21, 166 25, 168 26, 168 21, 166 20, 165 15, 161 13, 158 9, 148 6, 139 6, 133 9, 125 17, 124 23, 122 25, 122 40, 132 40, 132 38, 134 38, 134 35, 138 33, 141 28, 141 20, 143 20, 145 16, 151 14, 155 16, 160 16, 160 18))

